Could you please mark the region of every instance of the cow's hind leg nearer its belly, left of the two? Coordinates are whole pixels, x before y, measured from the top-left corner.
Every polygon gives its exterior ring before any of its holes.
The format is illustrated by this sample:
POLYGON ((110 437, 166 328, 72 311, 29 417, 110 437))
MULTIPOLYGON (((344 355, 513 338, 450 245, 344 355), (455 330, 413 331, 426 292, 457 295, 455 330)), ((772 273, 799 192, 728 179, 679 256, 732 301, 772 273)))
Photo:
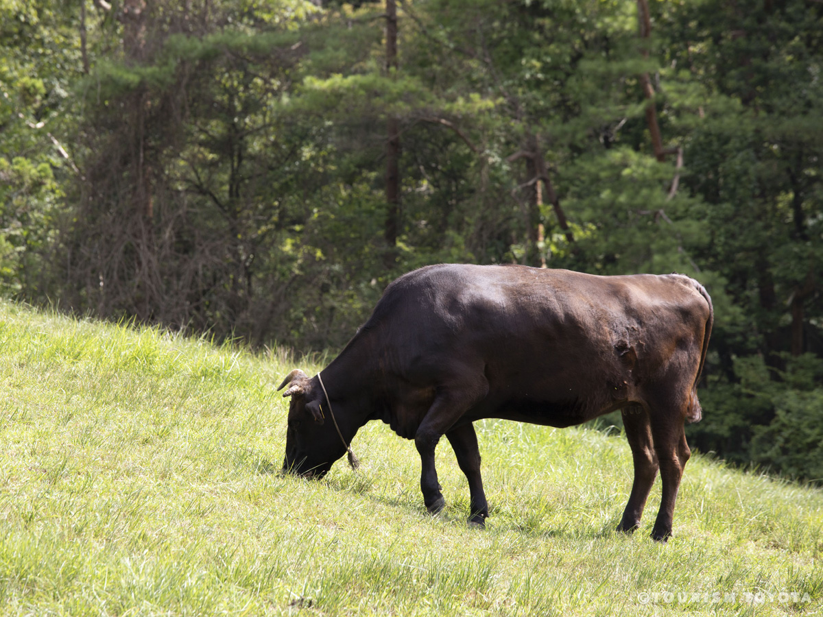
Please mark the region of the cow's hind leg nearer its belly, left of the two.
POLYGON ((658 475, 658 460, 654 453, 652 429, 646 410, 639 405, 627 406, 623 409, 622 416, 625 436, 635 461, 635 481, 631 485, 629 502, 625 505, 617 531, 632 533, 640 526, 646 499, 649 499, 649 491, 658 475))

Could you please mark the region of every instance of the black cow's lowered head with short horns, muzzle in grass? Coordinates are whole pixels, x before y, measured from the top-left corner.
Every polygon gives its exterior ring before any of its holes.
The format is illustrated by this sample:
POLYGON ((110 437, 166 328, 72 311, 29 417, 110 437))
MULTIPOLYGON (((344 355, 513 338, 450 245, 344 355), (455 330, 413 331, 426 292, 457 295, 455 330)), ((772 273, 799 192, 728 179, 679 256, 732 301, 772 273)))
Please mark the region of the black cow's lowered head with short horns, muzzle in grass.
POLYGON ((288 386, 284 397, 291 397, 286 457, 283 471, 298 476, 322 478, 332 463, 346 453, 334 422, 328 415, 328 401, 318 378, 309 378, 300 369, 291 371, 278 390, 288 386))

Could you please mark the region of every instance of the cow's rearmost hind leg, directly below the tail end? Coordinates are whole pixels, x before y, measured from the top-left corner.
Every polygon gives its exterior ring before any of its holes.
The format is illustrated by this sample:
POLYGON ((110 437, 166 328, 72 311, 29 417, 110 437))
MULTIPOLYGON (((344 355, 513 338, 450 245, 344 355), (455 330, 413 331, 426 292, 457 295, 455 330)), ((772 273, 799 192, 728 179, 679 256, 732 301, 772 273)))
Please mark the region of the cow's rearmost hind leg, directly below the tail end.
POLYGON ((685 407, 686 405, 649 406, 654 452, 658 458, 660 479, 663 483, 663 496, 660 499, 658 517, 652 528, 652 537, 661 542, 672 536, 677 491, 680 489, 683 467, 691 456, 683 428, 686 423, 685 407))

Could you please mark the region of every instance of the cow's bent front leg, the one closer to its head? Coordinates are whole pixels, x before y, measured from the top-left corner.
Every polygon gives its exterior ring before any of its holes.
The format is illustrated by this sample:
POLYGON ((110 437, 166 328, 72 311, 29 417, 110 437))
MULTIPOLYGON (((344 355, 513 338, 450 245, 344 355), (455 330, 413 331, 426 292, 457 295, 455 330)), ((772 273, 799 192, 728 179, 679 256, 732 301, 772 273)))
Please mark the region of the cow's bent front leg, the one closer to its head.
POLYGON ((457 423, 463 414, 488 392, 488 383, 481 377, 476 381, 463 380, 453 385, 438 388, 435 401, 431 404, 415 434, 415 446, 420 453, 420 489, 425 508, 432 514, 444 508, 445 500, 440 492, 435 468, 435 448, 440 438, 457 423))

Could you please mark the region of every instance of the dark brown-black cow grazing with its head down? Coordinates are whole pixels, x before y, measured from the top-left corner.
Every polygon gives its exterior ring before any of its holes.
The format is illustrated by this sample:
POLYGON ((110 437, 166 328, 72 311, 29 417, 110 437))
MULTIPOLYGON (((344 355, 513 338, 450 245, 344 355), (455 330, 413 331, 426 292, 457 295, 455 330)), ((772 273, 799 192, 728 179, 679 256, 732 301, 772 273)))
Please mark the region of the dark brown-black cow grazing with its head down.
POLYGON ((319 375, 294 370, 281 383, 291 397, 283 469, 323 476, 357 429, 383 420, 415 440, 425 507, 436 513, 444 499, 435 447, 445 435, 468 479, 469 522, 483 525, 472 422, 565 427, 620 409, 635 481, 618 530, 639 527, 659 469, 652 536, 665 541, 690 456, 683 425, 701 417, 696 387, 713 319, 706 290, 677 274, 471 265, 409 272, 319 375))

